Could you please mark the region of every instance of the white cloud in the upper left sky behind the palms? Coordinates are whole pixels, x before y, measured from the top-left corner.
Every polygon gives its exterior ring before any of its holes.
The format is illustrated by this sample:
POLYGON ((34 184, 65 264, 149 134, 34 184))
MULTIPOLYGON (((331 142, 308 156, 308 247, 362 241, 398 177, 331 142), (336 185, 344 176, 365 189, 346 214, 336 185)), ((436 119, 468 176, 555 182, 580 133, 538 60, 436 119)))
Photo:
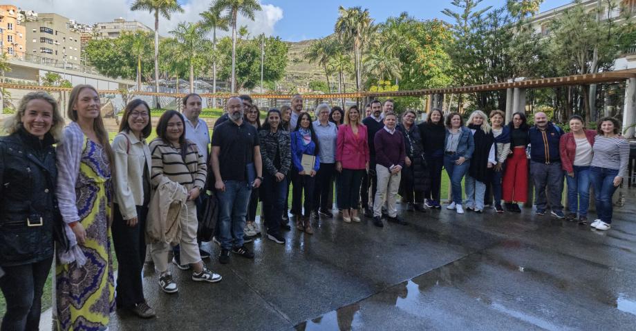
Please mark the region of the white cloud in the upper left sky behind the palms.
MULTIPOLYGON (((35 12, 55 12, 68 19, 75 19, 79 23, 109 22, 123 17, 124 19, 140 21, 150 28, 154 28, 154 16, 150 12, 133 12, 130 10, 131 0, 8 0, 5 3, 12 4, 22 10, 34 10, 35 12)), ((167 21, 159 19, 159 33, 168 36, 182 21, 194 22, 200 19, 199 13, 207 10, 211 0, 189 0, 183 4, 183 13, 176 13, 167 21)), ((283 19, 283 9, 270 4, 261 3, 263 10, 256 12, 254 21, 245 17, 238 17, 238 26, 247 26, 252 35, 265 33, 275 34, 275 25, 283 19)), ((221 32, 220 35, 229 34, 221 32)))

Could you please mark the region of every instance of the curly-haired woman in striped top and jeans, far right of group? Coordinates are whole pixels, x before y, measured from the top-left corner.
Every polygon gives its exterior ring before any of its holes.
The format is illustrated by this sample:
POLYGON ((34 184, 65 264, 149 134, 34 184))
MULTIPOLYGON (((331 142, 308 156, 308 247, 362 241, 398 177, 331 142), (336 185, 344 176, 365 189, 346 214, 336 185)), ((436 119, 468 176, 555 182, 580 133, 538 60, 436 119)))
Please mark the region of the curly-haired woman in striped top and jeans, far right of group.
POLYGON ((612 223, 612 195, 627 176, 629 143, 619 136, 620 123, 612 117, 599 121, 595 137, 594 155, 590 165, 590 181, 596 194, 599 219, 592 228, 609 230, 612 223))

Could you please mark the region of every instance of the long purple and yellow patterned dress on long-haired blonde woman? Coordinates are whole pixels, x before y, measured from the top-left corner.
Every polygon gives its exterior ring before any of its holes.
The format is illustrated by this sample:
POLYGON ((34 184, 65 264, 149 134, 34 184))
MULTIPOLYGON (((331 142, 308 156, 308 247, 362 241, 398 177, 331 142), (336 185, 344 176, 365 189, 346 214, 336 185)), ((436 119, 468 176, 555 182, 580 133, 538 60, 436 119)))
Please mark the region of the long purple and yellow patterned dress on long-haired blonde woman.
POLYGON ((114 308, 111 230, 111 166, 102 146, 84 140, 75 184, 77 214, 86 230, 86 243, 79 245, 86 264, 57 265, 57 328, 59 330, 105 330, 114 308))

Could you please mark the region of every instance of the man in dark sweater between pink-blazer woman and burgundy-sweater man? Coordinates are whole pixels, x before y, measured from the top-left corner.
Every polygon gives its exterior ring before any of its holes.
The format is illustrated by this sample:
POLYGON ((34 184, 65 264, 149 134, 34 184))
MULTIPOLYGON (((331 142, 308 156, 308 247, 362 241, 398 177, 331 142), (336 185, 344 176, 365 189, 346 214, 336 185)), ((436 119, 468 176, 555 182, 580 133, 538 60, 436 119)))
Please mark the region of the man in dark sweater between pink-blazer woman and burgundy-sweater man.
POLYGON ((384 128, 384 115, 382 114, 382 103, 377 100, 371 101, 371 116, 362 120, 362 124, 366 126, 367 143, 370 160, 368 163, 368 174, 362 179, 362 188, 360 188, 360 199, 362 200, 362 208, 364 209, 364 216, 373 217, 373 210, 369 205, 369 190, 371 190, 371 203, 373 203, 373 197, 375 197, 375 191, 377 190, 377 177, 375 176, 375 146, 373 139, 375 139, 375 133, 384 128))

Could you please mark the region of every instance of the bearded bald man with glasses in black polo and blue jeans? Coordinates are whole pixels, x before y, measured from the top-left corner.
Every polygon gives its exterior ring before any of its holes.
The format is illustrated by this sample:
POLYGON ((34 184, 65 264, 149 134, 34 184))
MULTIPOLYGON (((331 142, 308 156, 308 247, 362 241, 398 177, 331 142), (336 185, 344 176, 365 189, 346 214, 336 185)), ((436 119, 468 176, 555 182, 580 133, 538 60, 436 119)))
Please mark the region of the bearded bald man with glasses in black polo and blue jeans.
POLYGON ((214 129, 210 155, 218 197, 218 261, 223 264, 230 261, 230 250, 254 258, 245 248, 243 228, 252 187, 258 188, 263 180, 259 135, 254 126, 243 121, 243 101, 232 97, 226 107, 229 120, 214 129))

